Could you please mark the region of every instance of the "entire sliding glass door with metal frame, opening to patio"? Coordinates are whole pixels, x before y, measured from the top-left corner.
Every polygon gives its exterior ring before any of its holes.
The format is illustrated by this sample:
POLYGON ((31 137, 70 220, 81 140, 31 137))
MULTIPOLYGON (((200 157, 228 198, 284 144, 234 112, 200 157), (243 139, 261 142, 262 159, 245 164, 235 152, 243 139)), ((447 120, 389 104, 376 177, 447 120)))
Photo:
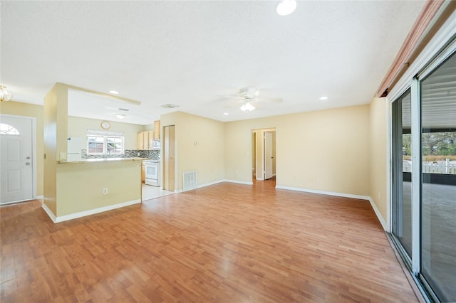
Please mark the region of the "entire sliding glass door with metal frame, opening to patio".
POLYGON ((392 104, 392 235, 435 302, 456 302, 456 42, 451 45, 392 104))

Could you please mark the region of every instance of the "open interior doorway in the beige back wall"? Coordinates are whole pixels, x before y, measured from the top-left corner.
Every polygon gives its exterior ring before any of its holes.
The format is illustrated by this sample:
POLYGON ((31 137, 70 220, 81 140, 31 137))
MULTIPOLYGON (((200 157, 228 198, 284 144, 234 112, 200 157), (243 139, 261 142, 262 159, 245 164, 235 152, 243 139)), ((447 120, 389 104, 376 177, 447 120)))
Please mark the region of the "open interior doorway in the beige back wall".
POLYGON ((276 179, 276 129, 252 130, 252 179, 276 179))

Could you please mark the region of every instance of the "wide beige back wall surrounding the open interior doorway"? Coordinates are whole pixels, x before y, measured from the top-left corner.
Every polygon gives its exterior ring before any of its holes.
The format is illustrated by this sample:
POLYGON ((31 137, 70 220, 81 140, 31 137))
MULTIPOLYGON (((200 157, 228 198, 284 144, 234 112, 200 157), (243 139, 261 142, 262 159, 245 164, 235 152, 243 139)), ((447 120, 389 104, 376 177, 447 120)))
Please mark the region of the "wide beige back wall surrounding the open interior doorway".
POLYGON ((252 181, 251 131, 275 127, 277 186, 368 196, 369 118, 361 105, 227 122, 225 179, 252 181))

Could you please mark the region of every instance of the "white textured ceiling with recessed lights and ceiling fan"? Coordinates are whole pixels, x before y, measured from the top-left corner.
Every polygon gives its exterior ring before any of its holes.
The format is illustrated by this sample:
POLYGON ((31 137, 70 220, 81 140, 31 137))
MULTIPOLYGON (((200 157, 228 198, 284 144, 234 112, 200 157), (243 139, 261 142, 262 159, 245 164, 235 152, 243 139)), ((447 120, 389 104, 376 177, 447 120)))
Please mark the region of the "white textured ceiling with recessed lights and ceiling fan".
POLYGON ((69 115, 116 121, 123 107, 135 124, 175 110, 233 121, 361 105, 424 3, 299 1, 279 16, 278 1, 2 0, 0 82, 41 105, 55 83, 118 90, 141 105, 74 92, 69 115), (247 86, 284 101, 246 114, 224 100, 247 86))

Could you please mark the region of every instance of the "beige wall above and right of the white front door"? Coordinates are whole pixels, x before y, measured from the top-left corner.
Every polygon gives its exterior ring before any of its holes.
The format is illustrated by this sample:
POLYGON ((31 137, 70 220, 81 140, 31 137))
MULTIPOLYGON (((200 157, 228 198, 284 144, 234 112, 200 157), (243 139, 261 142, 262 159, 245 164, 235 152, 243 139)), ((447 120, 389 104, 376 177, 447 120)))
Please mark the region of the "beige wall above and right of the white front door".
POLYGON ((1 102, 0 113, 36 118, 36 196, 43 196, 43 107, 21 102, 1 102))

